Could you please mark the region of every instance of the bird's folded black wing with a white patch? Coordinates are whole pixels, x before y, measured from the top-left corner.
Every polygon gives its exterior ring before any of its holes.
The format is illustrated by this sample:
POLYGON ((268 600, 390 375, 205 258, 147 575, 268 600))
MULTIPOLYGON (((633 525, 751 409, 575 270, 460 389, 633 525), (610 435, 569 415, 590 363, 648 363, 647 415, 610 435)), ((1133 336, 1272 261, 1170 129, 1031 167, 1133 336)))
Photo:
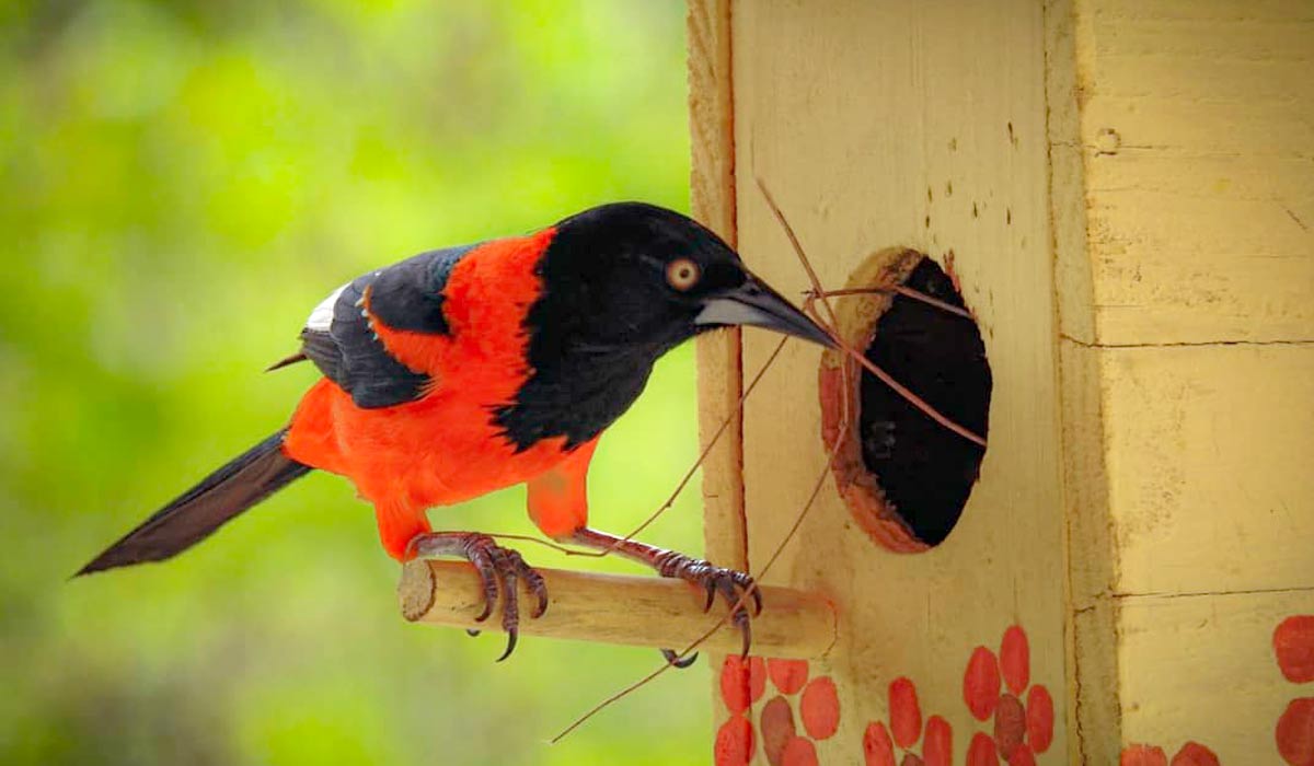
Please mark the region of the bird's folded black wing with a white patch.
POLYGON ((393 330, 451 332, 443 288, 452 267, 474 246, 422 252, 356 277, 315 307, 301 331, 301 352, 359 407, 389 407, 418 399, 430 382, 384 348, 376 323, 393 330), (368 310, 365 293, 369 293, 368 310))

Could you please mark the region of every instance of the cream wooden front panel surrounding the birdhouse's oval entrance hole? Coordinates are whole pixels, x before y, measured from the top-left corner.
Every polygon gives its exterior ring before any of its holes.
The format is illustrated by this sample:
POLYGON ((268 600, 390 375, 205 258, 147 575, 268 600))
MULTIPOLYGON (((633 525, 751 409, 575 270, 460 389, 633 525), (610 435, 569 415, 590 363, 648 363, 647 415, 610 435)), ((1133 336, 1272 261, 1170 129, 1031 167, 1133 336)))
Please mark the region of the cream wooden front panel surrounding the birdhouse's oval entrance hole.
MULTIPOLYGON (((733 34, 738 237, 753 268, 787 293, 805 288, 754 175, 827 285, 842 285, 882 247, 953 251, 995 371, 982 481, 941 547, 878 548, 828 482, 766 578, 819 589, 840 608, 841 642, 809 669, 837 687, 838 729, 811 746, 820 762, 857 762, 866 727, 890 723, 887 692, 904 677, 925 716, 950 723, 961 759, 974 732, 991 727, 963 703, 967 660, 976 646, 997 652, 1004 629, 1020 624, 1031 679, 1053 690, 1059 719, 1045 758, 1060 759, 1064 529, 1042 7, 754 1, 735 7, 733 34)), ((745 331, 745 369, 773 347, 745 331)), ((791 344, 748 402, 754 562, 771 556, 825 470, 817 365, 816 349, 791 344)))

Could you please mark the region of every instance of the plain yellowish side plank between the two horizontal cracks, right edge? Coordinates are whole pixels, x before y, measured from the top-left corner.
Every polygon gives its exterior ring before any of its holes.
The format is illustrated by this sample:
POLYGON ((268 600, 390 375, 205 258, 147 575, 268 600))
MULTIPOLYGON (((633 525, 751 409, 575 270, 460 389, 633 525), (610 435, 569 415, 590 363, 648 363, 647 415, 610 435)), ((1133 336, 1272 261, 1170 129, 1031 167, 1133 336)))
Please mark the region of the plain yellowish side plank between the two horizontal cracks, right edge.
POLYGON ((1314 587, 1314 343, 1101 353, 1114 591, 1314 587))

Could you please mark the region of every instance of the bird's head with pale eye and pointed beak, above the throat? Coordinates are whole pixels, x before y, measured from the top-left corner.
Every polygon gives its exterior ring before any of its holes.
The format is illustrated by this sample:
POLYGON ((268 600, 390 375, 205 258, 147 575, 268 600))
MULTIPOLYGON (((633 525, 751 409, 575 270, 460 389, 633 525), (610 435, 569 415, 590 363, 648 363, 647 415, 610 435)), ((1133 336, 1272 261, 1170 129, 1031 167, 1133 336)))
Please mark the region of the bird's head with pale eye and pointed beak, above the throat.
POLYGON ((568 344, 661 353, 704 330, 748 325, 833 347, 716 234, 679 213, 619 202, 556 229, 541 307, 556 313, 551 323, 568 344))

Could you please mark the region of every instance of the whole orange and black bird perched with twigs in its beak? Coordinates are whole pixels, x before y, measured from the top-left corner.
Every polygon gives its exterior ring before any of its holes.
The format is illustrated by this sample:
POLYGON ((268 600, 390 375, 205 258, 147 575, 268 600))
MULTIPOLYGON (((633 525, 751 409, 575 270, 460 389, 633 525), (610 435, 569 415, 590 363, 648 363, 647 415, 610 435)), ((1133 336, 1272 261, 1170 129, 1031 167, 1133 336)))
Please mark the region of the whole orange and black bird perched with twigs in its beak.
MULTIPOLYGON (((427 511, 516 484, 544 535, 646 564, 741 600, 752 579, 587 526, 586 477, 602 432, 666 351, 706 330, 766 327, 830 338, 753 276, 720 238, 671 210, 603 205, 527 237, 423 252, 338 288, 301 330, 323 373, 290 423, 146 519, 78 574, 160 561, 311 469, 350 478, 373 503, 398 561, 464 557, 486 619, 502 602, 515 645, 518 582, 543 578, 478 532, 434 532, 427 511)), ((757 595, 756 589, 753 590, 757 595)), ((761 608, 761 602, 757 603, 761 608)), ((744 607, 733 615, 744 631, 744 607)))

